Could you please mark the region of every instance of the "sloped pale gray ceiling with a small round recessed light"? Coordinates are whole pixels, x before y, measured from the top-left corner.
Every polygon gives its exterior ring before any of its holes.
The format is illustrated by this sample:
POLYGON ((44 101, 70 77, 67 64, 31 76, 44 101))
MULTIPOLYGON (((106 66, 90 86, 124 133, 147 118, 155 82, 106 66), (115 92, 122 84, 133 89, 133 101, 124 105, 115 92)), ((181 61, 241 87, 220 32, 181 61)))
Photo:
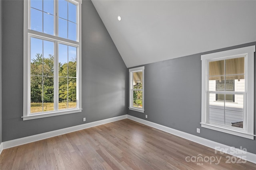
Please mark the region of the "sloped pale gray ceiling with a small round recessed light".
POLYGON ((256 41, 256 1, 92 2, 128 68, 256 41))

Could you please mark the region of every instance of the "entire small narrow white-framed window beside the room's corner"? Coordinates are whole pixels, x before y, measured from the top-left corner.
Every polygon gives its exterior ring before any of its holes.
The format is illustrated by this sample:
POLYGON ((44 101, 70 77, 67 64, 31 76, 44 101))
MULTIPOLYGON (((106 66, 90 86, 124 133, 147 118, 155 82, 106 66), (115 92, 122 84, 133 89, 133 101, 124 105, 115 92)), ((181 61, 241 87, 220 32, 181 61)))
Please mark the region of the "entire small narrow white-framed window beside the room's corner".
POLYGON ((129 69, 130 110, 144 113, 144 66, 129 69))

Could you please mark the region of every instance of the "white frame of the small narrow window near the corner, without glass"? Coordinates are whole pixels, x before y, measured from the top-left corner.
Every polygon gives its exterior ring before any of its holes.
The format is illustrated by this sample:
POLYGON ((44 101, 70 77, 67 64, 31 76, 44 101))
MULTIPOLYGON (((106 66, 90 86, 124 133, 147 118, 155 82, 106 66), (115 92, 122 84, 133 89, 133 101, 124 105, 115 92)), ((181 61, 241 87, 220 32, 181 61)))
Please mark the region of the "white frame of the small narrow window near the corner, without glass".
POLYGON ((130 80, 130 85, 129 85, 129 109, 133 111, 138 111, 141 113, 144 113, 144 66, 137 67, 137 68, 130 68, 129 69, 129 80, 130 80), (134 72, 141 72, 142 71, 142 109, 138 107, 133 107, 133 73, 134 72))

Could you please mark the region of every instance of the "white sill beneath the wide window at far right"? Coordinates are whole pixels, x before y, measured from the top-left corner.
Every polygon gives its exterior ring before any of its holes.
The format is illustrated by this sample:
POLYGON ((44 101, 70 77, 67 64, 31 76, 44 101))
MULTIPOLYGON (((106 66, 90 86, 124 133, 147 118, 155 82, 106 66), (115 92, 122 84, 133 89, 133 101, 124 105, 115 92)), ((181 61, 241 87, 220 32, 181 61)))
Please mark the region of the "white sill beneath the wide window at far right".
POLYGON ((252 140, 254 139, 254 136, 256 136, 254 134, 248 134, 248 133, 246 133, 246 131, 239 131, 239 129, 237 129, 237 128, 227 129, 225 127, 220 127, 217 124, 216 125, 210 124, 210 123, 200 123, 200 124, 201 124, 201 127, 205 127, 205 128, 212 129, 215 131, 220 131, 220 132, 224 132, 224 133, 228 133, 231 135, 236 135, 236 136, 240 136, 240 137, 244 137, 244 138, 248 138, 248 139, 252 139, 252 140))

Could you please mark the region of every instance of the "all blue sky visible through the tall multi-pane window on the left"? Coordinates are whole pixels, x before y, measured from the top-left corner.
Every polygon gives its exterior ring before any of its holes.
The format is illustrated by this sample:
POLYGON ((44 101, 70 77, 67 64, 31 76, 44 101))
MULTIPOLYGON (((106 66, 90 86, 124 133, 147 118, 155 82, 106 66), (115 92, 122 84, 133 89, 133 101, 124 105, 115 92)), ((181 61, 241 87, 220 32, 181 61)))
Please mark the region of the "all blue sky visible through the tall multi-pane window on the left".
MULTIPOLYGON (((44 32, 54 35, 54 0, 31 0, 30 2, 30 25, 34 31, 44 32)), ((58 1, 58 33, 59 37, 76 41, 76 8, 77 6, 66 1, 58 1)), ((31 38, 31 61, 36 58, 36 54, 44 51, 44 55, 54 55, 54 43, 42 39, 31 38), (44 43, 43 43, 44 41, 44 43), (50 43, 45 43, 50 42, 50 43)), ((68 54, 73 54, 76 59, 76 47, 59 45, 59 63, 67 63, 68 54)), ((70 58, 71 59, 71 58, 70 58)))

